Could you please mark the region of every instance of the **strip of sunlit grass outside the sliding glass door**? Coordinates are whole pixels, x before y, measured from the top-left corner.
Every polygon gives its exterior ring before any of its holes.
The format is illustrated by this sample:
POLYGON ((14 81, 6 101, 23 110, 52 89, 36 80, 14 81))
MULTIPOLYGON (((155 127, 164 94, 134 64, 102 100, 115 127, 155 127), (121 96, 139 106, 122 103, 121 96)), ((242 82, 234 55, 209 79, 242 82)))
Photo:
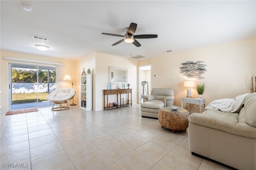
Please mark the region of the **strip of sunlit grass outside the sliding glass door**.
MULTIPOLYGON (((47 101, 48 93, 38 93, 38 101, 47 101)), ((14 93, 12 94, 12 104, 36 102, 37 93, 14 93)))

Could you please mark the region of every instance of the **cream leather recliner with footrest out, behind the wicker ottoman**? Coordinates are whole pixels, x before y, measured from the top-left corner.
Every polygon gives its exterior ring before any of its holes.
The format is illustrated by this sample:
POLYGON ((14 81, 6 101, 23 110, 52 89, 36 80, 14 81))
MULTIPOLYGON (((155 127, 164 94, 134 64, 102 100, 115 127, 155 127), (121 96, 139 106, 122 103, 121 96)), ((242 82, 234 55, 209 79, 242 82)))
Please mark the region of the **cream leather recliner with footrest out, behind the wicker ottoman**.
POLYGON ((172 105, 174 105, 174 89, 153 88, 151 95, 143 96, 143 103, 140 105, 141 115, 158 119, 160 109, 172 105))

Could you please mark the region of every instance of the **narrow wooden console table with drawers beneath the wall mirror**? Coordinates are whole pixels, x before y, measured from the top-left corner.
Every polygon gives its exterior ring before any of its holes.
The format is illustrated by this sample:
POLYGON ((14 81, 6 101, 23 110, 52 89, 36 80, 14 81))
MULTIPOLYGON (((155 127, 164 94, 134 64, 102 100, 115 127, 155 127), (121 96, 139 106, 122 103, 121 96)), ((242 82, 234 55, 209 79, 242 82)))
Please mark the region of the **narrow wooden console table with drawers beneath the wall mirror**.
POLYGON ((109 109, 109 108, 114 108, 114 107, 120 107, 121 106, 129 106, 131 105, 132 106, 132 89, 111 89, 111 90, 103 90, 103 94, 104 94, 104 110, 105 109, 109 109), (121 94, 125 94, 127 93, 128 94, 128 98, 129 98, 129 93, 131 93, 131 98, 130 98, 130 103, 124 103, 122 104, 122 99, 121 99, 121 94), (117 106, 111 106, 111 107, 108 107, 108 105, 106 106, 106 100, 105 100, 105 96, 107 95, 107 104, 108 104, 108 95, 116 95, 116 99, 117 99, 117 102, 118 102, 118 95, 120 96, 120 101, 119 101, 119 105, 117 106))

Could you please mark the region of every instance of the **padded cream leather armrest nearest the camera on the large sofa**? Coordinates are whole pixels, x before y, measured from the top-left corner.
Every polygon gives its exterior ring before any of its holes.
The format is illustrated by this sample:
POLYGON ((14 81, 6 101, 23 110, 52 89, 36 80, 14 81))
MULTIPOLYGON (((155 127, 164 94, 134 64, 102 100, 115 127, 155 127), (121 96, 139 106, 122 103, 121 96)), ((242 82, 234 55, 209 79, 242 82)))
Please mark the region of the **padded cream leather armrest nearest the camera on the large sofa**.
POLYGON ((256 127, 252 127, 246 123, 234 123, 218 117, 205 115, 201 113, 192 113, 188 117, 190 123, 201 125, 204 127, 222 130, 239 136, 256 138, 256 127))

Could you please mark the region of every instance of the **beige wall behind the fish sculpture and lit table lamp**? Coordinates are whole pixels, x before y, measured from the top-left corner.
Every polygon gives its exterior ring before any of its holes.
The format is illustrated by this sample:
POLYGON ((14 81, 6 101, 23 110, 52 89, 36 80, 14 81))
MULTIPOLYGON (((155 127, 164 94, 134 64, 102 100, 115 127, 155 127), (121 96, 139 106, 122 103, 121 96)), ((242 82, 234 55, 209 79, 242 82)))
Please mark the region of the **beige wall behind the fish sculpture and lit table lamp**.
MULTIPOLYGON (((184 51, 171 52, 164 57, 139 61, 139 65, 151 64, 152 88, 171 87, 175 92, 174 105, 181 106, 181 97, 186 96, 183 87, 187 77, 180 73, 181 63, 186 61, 204 61, 207 66, 204 79, 206 105, 215 99, 234 98, 249 93, 249 79, 256 75, 256 39, 251 38, 237 42, 184 51)), ((197 97, 192 88, 192 97, 197 97)), ((193 111, 194 108, 192 108, 193 111)), ((197 109, 194 109, 197 111, 197 109)))

